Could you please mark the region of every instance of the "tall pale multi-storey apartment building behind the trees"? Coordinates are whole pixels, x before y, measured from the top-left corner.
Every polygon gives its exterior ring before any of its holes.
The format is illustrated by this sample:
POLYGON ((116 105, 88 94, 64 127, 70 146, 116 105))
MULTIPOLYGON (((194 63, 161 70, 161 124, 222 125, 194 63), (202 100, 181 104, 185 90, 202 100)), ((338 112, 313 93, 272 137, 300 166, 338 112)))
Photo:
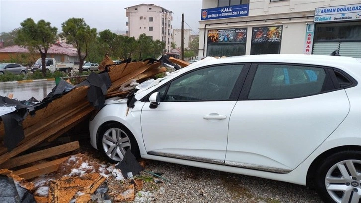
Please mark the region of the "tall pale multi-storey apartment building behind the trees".
POLYGON ((139 4, 125 10, 129 37, 138 39, 144 33, 153 40, 165 42, 165 52, 171 50, 172 11, 154 4, 139 4))

